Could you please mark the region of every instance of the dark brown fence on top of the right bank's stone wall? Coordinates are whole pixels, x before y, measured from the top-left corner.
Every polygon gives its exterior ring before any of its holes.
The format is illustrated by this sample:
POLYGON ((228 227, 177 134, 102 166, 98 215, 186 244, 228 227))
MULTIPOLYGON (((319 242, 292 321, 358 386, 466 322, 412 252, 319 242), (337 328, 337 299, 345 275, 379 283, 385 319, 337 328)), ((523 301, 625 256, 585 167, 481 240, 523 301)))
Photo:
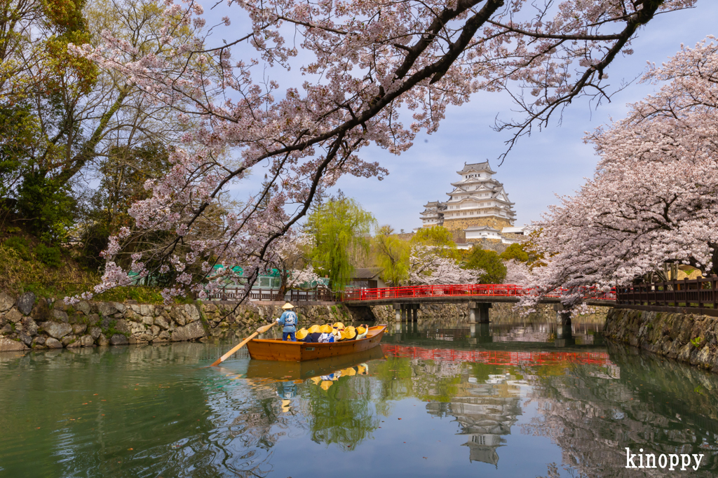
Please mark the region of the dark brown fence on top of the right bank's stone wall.
POLYGON ((617 287, 616 304, 718 310, 718 276, 617 287))

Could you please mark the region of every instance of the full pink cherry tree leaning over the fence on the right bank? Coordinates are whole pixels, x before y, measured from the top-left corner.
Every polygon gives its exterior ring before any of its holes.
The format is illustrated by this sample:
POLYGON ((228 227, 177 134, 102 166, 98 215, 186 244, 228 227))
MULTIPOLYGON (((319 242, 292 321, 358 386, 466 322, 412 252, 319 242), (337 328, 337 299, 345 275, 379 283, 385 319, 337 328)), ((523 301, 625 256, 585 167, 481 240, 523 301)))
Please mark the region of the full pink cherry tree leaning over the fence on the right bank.
POLYGON ((718 272, 718 44, 681 47, 643 81, 665 84, 587 137, 595 176, 533 224, 538 295, 564 287, 572 304, 666 264, 718 272))

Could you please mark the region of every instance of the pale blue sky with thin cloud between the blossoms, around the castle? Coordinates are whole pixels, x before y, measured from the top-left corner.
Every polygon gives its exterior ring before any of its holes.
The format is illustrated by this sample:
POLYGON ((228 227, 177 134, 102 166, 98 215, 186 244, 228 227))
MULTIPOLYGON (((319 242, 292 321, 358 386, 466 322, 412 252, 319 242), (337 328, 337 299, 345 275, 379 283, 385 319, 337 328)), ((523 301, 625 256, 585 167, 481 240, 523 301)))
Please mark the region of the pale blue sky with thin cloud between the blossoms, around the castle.
MULTIPOLYGON (((232 26, 218 29, 215 40, 234 38, 247 30, 245 14, 236 6, 218 4, 214 9, 208 8, 208 23, 218 22, 225 14, 232 19, 232 26)), ((607 70, 610 85, 634 80, 645 71, 646 62, 660 64, 675 54, 681 43, 692 47, 709 34, 718 35, 717 25, 718 1, 714 0, 699 0, 694 9, 656 16, 633 42, 634 54, 618 57, 610 65, 607 70)), ((256 52, 248 50, 235 47, 233 56, 256 56, 256 52)), ((297 58, 300 62, 301 55, 300 52, 297 58)), ((297 71, 271 68, 267 72, 286 87, 292 83, 299 86, 304 80, 297 71)), ((547 206, 557 204, 556 194, 572 194, 584 183, 584 178, 592 176, 597 158, 592 145, 583 142, 585 132, 610 123, 611 118, 623 118, 628 102, 638 101, 656 88, 634 82, 612 97, 612 102, 603 102, 597 108, 587 100, 574 101, 564 111, 560 125, 556 116, 549 128, 521 138, 501 166, 497 158, 505 150, 504 141, 509 136, 496 133, 491 126, 497 115, 509 120, 512 115, 521 118, 520 113, 513 113, 516 105, 507 95, 480 92, 467 104, 450 107, 438 132, 419 135, 414 147, 401 156, 375 146, 360 150, 362 158, 378 161, 388 169, 389 175, 383 181, 345 176, 337 188, 371 211, 379 224, 389 224, 396 231, 411 231, 421 226, 419 213, 427 201, 447 199, 450 183, 457 181, 456 171, 465 162, 488 159, 498 171, 495 178, 504 183, 510 200, 516 203, 516 225, 530 224, 541 217, 547 206)), ((408 115, 404 123, 411 123, 408 115)), ((254 191, 255 181, 261 181, 264 171, 258 168, 253 173, 248 182, 231 188, 238 199, 254 191)))

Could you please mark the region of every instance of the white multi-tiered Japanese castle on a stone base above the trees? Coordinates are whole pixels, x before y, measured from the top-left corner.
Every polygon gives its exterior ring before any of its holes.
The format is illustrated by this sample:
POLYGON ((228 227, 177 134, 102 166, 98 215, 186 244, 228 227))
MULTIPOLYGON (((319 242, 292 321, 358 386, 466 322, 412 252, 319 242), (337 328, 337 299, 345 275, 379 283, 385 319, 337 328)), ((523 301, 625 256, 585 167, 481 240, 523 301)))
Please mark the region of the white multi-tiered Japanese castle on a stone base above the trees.
POLYGON ((488 161, 464 164, 460 180, 452 183, 445 202, 430 201, 421 213, 423 227, 444 226, 449 231, 464 231, 466 241, 495 239, 504 243, 516 242, 503 234, 523 234, 514 227, 516 211, 508 199, 503 183, 496 181, 488 161))

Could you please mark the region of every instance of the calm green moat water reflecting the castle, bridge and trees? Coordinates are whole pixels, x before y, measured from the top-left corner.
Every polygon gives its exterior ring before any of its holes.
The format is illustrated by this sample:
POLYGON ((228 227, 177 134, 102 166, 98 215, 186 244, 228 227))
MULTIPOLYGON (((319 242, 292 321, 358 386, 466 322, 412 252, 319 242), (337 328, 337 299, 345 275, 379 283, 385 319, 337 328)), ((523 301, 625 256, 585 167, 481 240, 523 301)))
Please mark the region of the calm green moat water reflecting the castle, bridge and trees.
POLYGON ((207 365, 228 343, 0 354, 0 477, 718 473, 718 376, 600 325, 557 335, 426 321, 355 358, 222 368, 207 365), (626 469, 626 447, 704 457, 626 469))

